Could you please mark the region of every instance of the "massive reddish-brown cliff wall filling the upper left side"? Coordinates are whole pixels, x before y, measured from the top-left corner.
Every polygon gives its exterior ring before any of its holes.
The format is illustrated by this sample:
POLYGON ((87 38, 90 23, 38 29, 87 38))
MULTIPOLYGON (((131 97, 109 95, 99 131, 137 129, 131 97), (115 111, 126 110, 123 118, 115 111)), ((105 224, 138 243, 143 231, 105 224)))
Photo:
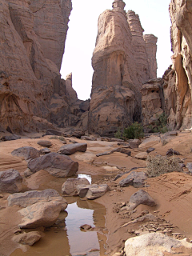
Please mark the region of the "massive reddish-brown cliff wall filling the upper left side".
POLYGON ((65 127, 84 114, 60 74, 71 9, 70 0, 0 0, 1 130, 65 127))

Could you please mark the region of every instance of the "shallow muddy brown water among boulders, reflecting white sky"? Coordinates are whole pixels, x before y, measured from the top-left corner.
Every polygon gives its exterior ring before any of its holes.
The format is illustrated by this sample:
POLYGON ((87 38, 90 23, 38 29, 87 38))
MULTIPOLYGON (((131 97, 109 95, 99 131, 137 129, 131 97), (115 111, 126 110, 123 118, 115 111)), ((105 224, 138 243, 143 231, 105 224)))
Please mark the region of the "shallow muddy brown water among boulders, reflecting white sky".
MULTIPOLYGON (((78 177, 87 178, 90 182, 92 179, 85 174, 78 174, 78 177)), ((38 190, 54 188, 61 194, 62 183, 65 181, 65 178, 53 178, 41 171, 34 174, 33 179, 31 177, 30 181, 26 181, 26 186, 30 184, 30 189, 38 190)), ((29 186, 26 190, 29 190, 29 186)), ((11 256, 104 255, 107 238, 105 206, 78 197, 66 197, 66 200, 69 203, 66 211, 59 215, 54 226, 44 230, 42 239, 34 246, 22 246, 22 250, 15 250, 11 256), (82 231, 80 226, 84 224, 89 224, 94 229, 82 231)))

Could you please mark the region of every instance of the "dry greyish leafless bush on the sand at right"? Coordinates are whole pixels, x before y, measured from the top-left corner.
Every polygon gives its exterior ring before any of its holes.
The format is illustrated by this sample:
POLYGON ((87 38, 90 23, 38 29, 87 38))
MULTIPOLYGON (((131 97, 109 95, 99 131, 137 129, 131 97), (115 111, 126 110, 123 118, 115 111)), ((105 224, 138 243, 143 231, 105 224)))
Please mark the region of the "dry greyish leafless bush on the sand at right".
POLYGON ((182 167, 179 165, 181 160, 179 158, 167 158, 158 156, 148 156, 146 162, 146 174, 149 178, 158 177, 162 174, 168 174, 173 171, 182 171, 182 167))

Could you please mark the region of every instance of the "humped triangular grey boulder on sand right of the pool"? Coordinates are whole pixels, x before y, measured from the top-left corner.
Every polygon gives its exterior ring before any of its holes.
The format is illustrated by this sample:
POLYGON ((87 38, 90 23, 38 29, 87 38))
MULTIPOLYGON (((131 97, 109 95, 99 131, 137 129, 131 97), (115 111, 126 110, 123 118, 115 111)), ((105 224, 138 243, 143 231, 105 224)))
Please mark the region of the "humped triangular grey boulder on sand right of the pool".
POLYGON ((156 203, 145 190, 138 190, 130 197, 127 210, 134 210, 139 205, 156 206, 156 203))

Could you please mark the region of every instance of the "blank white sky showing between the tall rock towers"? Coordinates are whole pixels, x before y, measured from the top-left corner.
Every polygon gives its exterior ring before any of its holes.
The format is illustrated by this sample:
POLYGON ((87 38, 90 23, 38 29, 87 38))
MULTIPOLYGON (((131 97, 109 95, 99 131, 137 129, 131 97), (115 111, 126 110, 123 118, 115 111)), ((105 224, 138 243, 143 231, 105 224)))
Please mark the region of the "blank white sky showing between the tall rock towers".
MULTIPOLYGON (((98 17, 112 9, 113 0, 72 0, 66 48, 62 58, 62 78, 73 74, 73 88, 79 99, 90 98, 93 68, 91 58, 98 34, 98 17)), ((158 37, 158 77, 162 77, 171 64, 170 0, 124 0, 125 10, 139 15, 144 34, 158 37)))

